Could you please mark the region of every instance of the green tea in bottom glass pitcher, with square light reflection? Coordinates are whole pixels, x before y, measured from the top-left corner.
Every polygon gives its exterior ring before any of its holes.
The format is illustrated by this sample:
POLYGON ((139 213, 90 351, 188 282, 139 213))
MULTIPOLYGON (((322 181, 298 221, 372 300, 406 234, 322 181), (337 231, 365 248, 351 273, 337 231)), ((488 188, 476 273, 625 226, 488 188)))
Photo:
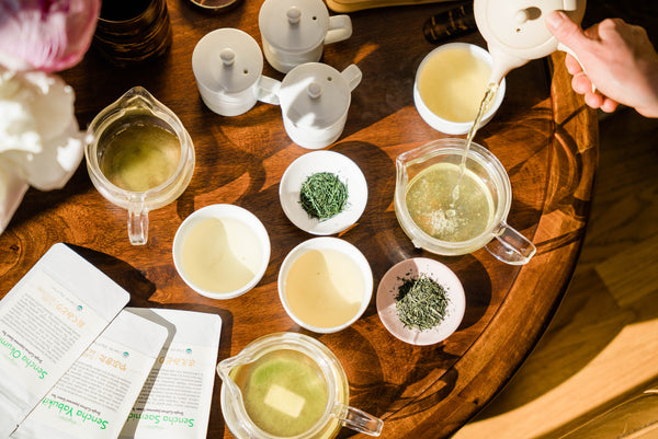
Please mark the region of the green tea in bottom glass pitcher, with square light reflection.
POLYGON ((235 368, 230 377, 240 388, 251 420, 270 435, 291 437, 309 430, 327 406, 327 386, 315 361, 281 349, 235 368))

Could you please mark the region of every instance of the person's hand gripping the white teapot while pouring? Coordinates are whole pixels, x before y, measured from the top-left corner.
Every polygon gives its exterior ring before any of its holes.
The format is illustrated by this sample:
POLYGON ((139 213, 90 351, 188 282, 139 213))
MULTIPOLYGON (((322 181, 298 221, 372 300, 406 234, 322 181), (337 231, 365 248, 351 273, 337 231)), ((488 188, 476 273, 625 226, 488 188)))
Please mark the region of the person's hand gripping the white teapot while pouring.
POLYGON ((565 65, 589 106, 611 113, 623 104, 658 117, 658 54, 643 27, 606 19, 583 31, 561 11, 546 26, 578 57, 567 55, 565 65))

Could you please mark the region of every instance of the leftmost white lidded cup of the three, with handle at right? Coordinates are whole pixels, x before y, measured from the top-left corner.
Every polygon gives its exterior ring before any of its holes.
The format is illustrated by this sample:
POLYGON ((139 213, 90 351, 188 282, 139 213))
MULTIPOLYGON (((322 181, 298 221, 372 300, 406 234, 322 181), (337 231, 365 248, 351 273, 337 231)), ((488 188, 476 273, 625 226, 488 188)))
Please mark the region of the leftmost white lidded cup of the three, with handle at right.
POLYGON ((279 104, 279 81, 262 76, 263 55, 249 34, 224 27, 206 34, 192 53, 203 102, 222 116, 238 116, 258 101, 279 104))

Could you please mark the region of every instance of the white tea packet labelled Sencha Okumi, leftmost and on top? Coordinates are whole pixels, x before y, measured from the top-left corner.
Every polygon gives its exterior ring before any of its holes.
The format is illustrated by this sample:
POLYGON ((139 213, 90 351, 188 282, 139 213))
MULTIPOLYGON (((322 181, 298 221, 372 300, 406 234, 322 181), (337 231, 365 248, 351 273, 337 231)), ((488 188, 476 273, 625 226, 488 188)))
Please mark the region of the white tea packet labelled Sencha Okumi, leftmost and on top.
POLYGON ((48 394, 129 298, 59 243, 0 300, 0 438, 48 394))

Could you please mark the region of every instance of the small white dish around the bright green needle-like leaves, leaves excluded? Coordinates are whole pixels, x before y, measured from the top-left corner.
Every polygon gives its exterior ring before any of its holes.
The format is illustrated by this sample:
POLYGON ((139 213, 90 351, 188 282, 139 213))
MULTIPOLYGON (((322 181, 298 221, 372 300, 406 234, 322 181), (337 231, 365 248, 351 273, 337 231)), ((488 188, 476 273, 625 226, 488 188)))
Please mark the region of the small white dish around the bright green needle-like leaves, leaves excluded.
POLYGON ((279 198, 285 216, 299 229, 316 235, 342 232, 354 224, 365 210, 367 183, 361 169, 348 157, 334 151, 313 151, 297 158, 283 173, 279 198), (310 218, 299 204, 302 184, 318 172, 330 172, 348 186, 345 209, 337 216, 310 218))

